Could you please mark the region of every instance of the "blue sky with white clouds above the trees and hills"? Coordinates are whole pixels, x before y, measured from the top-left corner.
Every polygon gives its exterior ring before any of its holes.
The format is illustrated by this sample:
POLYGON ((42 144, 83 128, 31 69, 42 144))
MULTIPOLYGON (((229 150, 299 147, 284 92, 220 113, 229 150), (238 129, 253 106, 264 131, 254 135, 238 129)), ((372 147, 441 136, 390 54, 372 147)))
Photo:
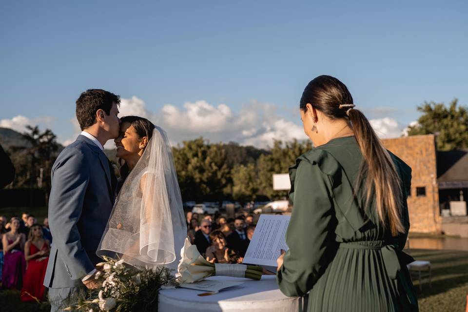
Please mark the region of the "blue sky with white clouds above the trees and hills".
POLYGON ((301 137, 299 98, 328 74, 396 133, 425 100, 468 105, 467 16, 461 0, 2 1, 0 126, 69 141, 76 98, 103 88, 173 141, 262 145, 301 137))

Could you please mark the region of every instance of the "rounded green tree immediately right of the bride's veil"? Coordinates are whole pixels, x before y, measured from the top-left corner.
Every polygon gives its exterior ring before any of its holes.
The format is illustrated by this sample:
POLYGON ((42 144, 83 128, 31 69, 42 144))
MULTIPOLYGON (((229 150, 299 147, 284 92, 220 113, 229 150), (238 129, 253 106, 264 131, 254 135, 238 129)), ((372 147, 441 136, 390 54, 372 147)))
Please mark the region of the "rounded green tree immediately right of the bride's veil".
POLYGON ((210 144, 200 137, 184 141, 173 154, 184 200, 223 199, 230 170, 221 144, 210 144))

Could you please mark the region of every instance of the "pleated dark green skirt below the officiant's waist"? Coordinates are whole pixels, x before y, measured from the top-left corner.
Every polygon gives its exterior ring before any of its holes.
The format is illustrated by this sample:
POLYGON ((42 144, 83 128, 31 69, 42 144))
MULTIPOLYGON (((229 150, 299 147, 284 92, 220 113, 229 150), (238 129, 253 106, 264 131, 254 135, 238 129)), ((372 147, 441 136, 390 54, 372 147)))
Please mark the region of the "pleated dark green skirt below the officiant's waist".
POLYGON ((356 248, 337 249, 309 294, 308 311, 417 311, 404 285, 410 281, 406 266, 391 278, 388 269, 395 264, 384 259, 380 241, 352 244, 356 248))

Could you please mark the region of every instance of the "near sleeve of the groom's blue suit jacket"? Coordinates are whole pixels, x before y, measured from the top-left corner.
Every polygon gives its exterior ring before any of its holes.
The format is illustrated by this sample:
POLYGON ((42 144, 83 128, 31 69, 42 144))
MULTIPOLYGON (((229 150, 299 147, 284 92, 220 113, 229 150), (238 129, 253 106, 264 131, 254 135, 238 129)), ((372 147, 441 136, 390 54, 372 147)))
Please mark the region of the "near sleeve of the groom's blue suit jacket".
POLYGON ((79 149, 66 149, 54 164, 49 199, 49 226, 59 256, 73 279, 94 270, 94 265, 81 245, 78 232, 90 168, 79 149))

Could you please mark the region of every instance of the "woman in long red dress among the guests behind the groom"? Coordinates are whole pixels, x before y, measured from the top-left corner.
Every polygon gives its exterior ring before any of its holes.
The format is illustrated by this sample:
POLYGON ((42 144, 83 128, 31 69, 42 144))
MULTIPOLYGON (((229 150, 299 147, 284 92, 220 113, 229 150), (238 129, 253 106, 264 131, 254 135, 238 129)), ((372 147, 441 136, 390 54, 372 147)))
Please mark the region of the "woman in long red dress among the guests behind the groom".
POLYGON ((45 286, 42 284, 49 260, 49 244, 49 241, 42 237, 42 227, 39 224, 31 226, 28 241, 24 246, 24 257, 28 264, 21 289, 21 301, 40 301, 44 297, 45 286))

